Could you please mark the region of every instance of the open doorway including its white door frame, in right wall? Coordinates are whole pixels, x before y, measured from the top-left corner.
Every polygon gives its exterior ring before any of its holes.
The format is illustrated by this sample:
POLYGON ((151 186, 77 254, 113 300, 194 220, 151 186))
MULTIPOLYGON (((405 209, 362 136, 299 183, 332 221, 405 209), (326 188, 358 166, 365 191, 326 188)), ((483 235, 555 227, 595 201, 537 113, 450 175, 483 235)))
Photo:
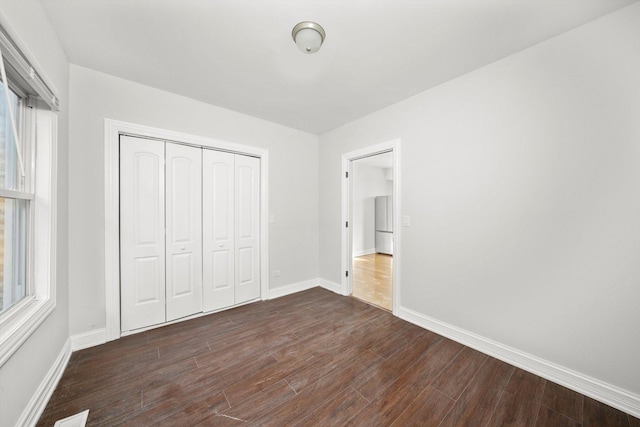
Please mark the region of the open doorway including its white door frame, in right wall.
POLYGON ((396 314, 401 260, 400 140, 343 154, 342 166, 342 294, 396 314))

